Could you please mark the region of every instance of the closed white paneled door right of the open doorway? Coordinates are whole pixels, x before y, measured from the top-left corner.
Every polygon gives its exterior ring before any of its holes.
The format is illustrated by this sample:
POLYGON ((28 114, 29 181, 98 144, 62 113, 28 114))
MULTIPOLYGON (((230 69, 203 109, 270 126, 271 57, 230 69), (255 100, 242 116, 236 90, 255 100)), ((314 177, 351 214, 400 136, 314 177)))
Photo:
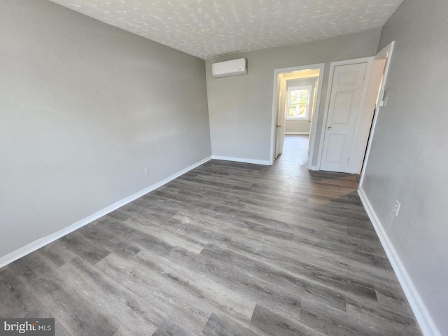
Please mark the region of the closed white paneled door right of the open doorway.
POLYGON ((366 69, 367 62, 334 67, 321 170, 348 172, 366 69))

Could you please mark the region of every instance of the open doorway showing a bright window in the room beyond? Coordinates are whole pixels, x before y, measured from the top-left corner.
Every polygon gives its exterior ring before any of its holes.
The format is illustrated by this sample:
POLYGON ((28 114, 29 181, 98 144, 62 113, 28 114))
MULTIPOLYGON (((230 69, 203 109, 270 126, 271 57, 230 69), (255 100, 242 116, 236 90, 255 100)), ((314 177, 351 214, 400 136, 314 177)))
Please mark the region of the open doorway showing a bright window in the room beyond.
POLYGON ((272 134, 270 163, 283 153, 285 135, 309 135, 306 144, 309 169, 316 134, 316 119, 321 101, 322 77, 325 64, 295 66, 274 70, 272 103, 272 134))

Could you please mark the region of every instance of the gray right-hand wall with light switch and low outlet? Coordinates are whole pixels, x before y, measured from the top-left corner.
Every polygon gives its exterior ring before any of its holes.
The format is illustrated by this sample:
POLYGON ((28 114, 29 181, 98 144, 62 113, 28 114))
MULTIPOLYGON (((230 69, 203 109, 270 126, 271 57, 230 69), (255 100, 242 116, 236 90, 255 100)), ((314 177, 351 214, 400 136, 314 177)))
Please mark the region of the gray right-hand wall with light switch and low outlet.
POLYGON ((448 335, 448 6, 405 0, 363 188, 442 335, 448 335), (392 211, 401 202, 399 216, 392 211))

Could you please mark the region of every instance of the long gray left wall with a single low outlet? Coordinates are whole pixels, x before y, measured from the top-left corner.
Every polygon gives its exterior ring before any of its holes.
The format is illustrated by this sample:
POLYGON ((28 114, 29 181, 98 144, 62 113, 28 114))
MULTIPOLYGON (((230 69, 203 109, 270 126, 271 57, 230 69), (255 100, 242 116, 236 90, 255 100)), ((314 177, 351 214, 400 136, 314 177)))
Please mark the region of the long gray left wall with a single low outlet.
POLYGON ((209 157, 204 61, 2 0, 0 144, 2 256, 209 157))

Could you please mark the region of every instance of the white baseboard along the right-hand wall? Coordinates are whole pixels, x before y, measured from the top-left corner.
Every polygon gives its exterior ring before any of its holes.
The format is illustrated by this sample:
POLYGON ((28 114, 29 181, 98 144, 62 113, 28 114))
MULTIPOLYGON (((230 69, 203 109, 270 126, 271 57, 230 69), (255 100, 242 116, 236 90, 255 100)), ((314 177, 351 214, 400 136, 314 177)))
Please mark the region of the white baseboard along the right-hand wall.
POLYGON ((395 272, 398 281, 400 281, 402 290, 405 292, 407 301, 409 302, 409 305, 414 312, 423 335, 442 336, 440 334, 440 331, 435 326, 433 318, 430 316, 428 309, 426 309, 423 300, 421 300, 419 292, 416 290, 411 277, 407 273, 405 266, 402 264, 400 256, 398 255, 397 251, 395 251, 395 248, 388 238, 388 235, 384 230, 383 225, 379 221, 377 214, 375 214, 372 204, 370 204, 370 201, 368 200, 367 195, 365 195, 362 186, 359 187, 358 194, 361 202, 363 202, 365 211, 367 211, 367 215, 369 216, 370 221, 372 222, 372 225, 377 232, 379 241, 381 241, 381 245, 383 246, 384 251, 386 251, 387 258, 391 262, 393 271, 395 272))

